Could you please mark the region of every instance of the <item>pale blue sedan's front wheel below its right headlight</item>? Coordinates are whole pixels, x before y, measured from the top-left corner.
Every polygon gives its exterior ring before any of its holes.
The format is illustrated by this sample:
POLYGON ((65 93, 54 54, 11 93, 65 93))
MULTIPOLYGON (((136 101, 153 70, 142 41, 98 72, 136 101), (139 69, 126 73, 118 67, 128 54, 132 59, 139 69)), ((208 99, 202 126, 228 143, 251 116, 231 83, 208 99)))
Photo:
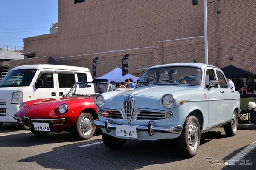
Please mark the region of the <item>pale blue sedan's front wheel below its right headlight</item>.
POLYGON ((177 147, 182 156, 192 158, 198 152, 200 145, 200 125, 195 116, 188 116, 182 132, 177 138, 177 147))

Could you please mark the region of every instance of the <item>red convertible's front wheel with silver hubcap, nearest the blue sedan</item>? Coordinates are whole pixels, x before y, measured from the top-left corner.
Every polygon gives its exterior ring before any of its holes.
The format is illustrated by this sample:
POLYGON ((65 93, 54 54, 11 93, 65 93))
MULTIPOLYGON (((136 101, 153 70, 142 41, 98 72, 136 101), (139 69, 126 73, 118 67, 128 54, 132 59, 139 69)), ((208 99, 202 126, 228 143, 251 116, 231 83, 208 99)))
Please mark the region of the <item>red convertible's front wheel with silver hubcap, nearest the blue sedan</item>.
POLYGON ((95 132, 93 116, 90 113, 81 113, 72 126, 72 133, 79 140, 90 139, 95 132))

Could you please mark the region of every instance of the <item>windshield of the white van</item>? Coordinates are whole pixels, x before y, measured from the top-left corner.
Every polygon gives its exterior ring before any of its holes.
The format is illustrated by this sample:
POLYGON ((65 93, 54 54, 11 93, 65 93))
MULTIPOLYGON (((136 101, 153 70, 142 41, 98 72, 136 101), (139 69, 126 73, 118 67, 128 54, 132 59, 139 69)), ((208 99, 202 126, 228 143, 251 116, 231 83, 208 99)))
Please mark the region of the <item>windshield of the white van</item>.
POLYGON ((0 82, 0 87, 29 86, 36 69, 9 71, 0 82))

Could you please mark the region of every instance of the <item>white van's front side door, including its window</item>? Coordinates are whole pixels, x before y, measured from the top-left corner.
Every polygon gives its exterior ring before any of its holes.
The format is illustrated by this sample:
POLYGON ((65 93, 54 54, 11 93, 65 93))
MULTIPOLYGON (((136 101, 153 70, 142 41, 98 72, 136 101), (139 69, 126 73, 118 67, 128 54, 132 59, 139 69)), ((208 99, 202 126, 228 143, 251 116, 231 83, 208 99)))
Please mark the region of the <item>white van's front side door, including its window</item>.
POLYGON ((34 99, 58 97, 55 71, 41 71, 36 80, 38 79, 43 80, 43 86, 35 89, 34 99))

